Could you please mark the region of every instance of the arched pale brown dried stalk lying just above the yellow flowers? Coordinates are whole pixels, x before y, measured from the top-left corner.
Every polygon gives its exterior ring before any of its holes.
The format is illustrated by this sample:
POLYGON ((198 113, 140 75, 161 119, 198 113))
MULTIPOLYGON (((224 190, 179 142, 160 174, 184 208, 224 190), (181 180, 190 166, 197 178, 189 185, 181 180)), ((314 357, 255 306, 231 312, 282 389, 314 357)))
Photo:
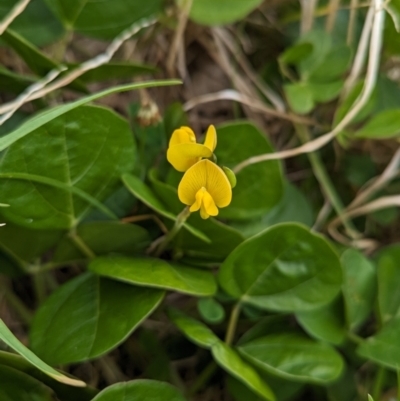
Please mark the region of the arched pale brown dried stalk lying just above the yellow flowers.
POLYGON ((196 97, 190 99, 189 101, 187 101, 183 105, 183 109, 185 111, 189 111, 189 110, 193 109, 194 107, 198 106, 199 104, 215 102, 217 100, 233 100, 235 102, 244 104, 254 110, 261 111, 265 114, 269 114, 274 117, 282 118, 283 120, 288 120, 288 121, 305 124, 305 125, 314 125, 315 126, 317 124, 314 120, 311 120, 309 118, 300 117, 295 114, 284 113, 284 112, 280 112, 275 109, 272 109, 271 107, 266 106, 261 101, 259 101, 257 99, 253 99, 242 93, 239 93, 238 91, 236 91, 234 89, 225 89, 225 90, 215 92, 215 93, 207 93, 206 95, 196 96, 196 97))

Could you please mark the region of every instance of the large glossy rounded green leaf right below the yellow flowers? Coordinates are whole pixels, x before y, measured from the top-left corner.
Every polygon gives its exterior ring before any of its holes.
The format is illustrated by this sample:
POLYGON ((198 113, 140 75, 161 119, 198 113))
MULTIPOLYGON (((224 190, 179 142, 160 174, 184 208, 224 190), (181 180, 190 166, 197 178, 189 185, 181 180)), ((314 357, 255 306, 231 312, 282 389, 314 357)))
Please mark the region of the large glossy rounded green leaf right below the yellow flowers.
POLYGON ((335 251, 298 224, 278 224, 240 244, 218 280, 232 297, 258 308, 299 312, 331 301, 342 271, 335 251))

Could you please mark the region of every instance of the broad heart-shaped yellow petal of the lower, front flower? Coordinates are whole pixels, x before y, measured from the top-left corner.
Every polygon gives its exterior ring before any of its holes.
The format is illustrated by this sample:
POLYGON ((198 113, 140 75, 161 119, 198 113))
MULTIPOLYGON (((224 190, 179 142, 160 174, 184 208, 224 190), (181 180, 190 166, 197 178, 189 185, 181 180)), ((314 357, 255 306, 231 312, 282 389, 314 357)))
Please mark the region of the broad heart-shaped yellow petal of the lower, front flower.
POLYGON ((202 187, 206 188, 217 207, 231 203, 232 188, 225 173, 210 160, 201 160, 189 170, 178 186, 179 200, 185 205, 193 205, 196 194, 202 187))

